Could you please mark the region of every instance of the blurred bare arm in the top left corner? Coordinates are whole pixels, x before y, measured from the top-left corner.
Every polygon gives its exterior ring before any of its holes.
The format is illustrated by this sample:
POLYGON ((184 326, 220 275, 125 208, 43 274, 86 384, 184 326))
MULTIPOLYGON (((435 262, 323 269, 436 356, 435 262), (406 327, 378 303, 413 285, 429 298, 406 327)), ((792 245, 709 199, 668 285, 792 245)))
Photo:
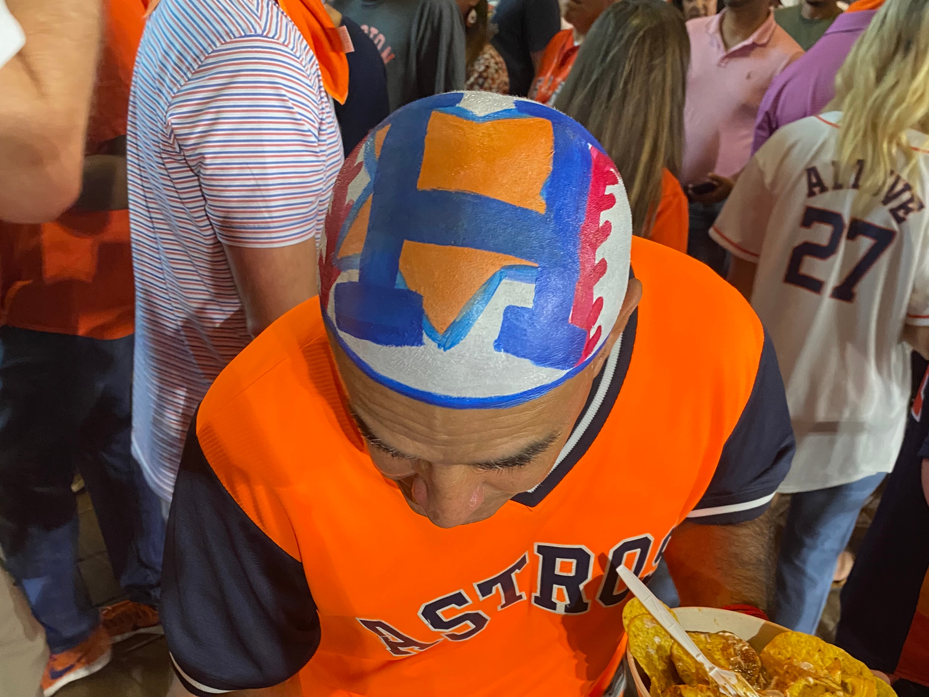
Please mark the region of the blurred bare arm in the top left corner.
POLYGON ((81 189, 99 0, 7 0, 26 34, 0 67, 0 218, 59 217, 81 189))

